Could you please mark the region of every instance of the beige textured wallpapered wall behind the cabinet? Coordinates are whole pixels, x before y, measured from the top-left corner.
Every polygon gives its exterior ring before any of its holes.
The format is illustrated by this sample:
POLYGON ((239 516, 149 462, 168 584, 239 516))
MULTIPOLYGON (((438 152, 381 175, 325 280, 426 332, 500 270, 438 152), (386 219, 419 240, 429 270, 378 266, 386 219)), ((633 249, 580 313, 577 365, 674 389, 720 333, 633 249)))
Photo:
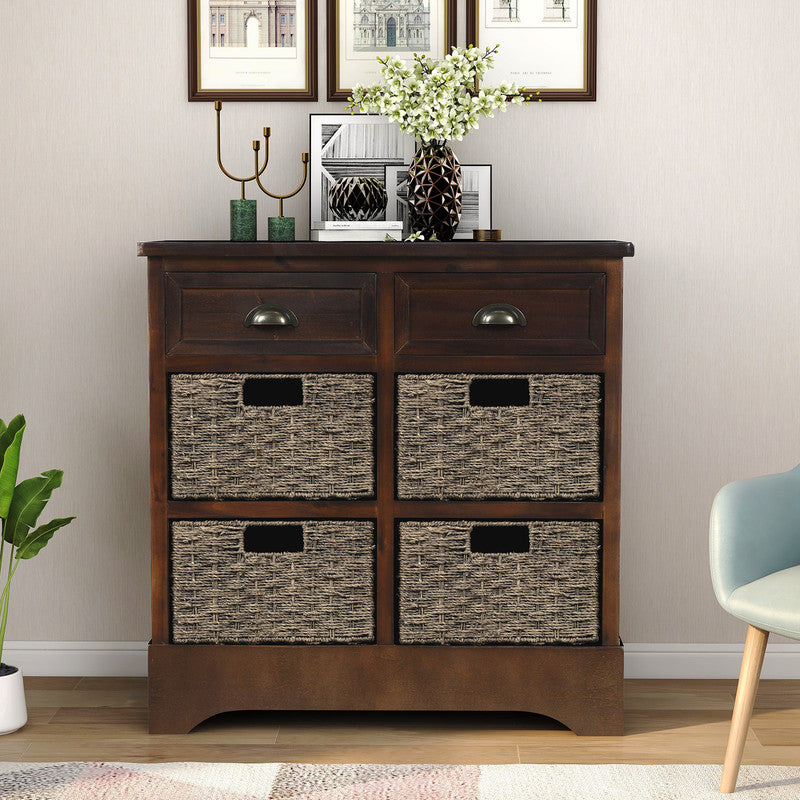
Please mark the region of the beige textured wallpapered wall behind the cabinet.
MULTIPOLYGON (((492 163, 505 238, 635 243, 623 638, 738 642, 708 579, 711 500, 800 461, 800 3, 599 6, 597 102, 514 108, 457 151, 492 163)), ((78 515, 17 573, 11 640, 149 636, 136 242, 225 238, 236 196, 212 106, 186 101, 185 15, 184 0, 3 4, 0 416, 25 412, 25 474, 63 468, 52 512, 78 515)), ((293 188, 308 114, 340 109, 228 103, 226 154, 247 169, 271 125, 271 184, 293 188)), ((287 205, 305 235, 306 192, 287 205)))

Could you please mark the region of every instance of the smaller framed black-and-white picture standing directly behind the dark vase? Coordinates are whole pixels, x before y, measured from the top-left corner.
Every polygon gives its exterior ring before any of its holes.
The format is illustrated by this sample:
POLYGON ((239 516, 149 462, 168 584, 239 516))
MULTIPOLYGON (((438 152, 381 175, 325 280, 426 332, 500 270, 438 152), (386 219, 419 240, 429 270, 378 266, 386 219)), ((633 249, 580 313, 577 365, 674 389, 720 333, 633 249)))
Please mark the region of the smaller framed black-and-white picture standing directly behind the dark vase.
MULTIPOLYGON (((408 164, 389 164, 385 168, 387 220, 402 220, 403 238, 411 233, 408 217, 408 164)), ((461 220, 454 239, 472 239, 472 231, 492 227, 491 164, 461 165, 461 220)))

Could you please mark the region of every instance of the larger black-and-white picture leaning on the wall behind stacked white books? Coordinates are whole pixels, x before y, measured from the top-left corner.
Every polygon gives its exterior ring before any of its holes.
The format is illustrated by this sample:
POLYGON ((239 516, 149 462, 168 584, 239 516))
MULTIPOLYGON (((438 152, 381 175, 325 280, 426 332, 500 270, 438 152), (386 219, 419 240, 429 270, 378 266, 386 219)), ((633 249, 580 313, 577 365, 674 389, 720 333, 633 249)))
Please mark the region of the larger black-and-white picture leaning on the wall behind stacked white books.
MULTIPOLYGON (((311 114, 309 224, 334 219, 328 191, 345 177, 376 178, 390 166, 408 169, 414 137, 378 114, 311 114), (405 166, 404 166, 405 165, 405 166)), ((385 219, 381 215, 379 219, 385 219)))

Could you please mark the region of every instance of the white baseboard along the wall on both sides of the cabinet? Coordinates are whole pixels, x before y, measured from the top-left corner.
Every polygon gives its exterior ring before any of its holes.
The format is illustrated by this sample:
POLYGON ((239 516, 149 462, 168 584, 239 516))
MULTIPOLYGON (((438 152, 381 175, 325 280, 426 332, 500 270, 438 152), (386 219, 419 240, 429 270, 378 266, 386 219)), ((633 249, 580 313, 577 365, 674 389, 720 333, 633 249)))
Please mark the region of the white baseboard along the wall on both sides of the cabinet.
MULTIPOLYGON (((744 645, 626 644, 626 678, 738 678, 744 645)), ((147 642, 6 642, 25 675, 147 675, 147 642)), ((767 647, 762 678, 800 680, 800 643, 767 647)))

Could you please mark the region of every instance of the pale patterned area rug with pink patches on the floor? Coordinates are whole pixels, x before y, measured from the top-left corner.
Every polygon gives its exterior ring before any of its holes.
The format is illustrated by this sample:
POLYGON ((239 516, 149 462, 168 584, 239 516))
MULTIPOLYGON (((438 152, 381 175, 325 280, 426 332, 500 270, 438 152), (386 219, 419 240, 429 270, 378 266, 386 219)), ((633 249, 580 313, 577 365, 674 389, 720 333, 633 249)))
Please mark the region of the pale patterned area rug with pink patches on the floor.
MULTIPOLYGON (((719 800, 709 764, 0 764, 2 800, 719 800)), ((744 766, 737 798, 797 800, 800 767, 744 766)))

